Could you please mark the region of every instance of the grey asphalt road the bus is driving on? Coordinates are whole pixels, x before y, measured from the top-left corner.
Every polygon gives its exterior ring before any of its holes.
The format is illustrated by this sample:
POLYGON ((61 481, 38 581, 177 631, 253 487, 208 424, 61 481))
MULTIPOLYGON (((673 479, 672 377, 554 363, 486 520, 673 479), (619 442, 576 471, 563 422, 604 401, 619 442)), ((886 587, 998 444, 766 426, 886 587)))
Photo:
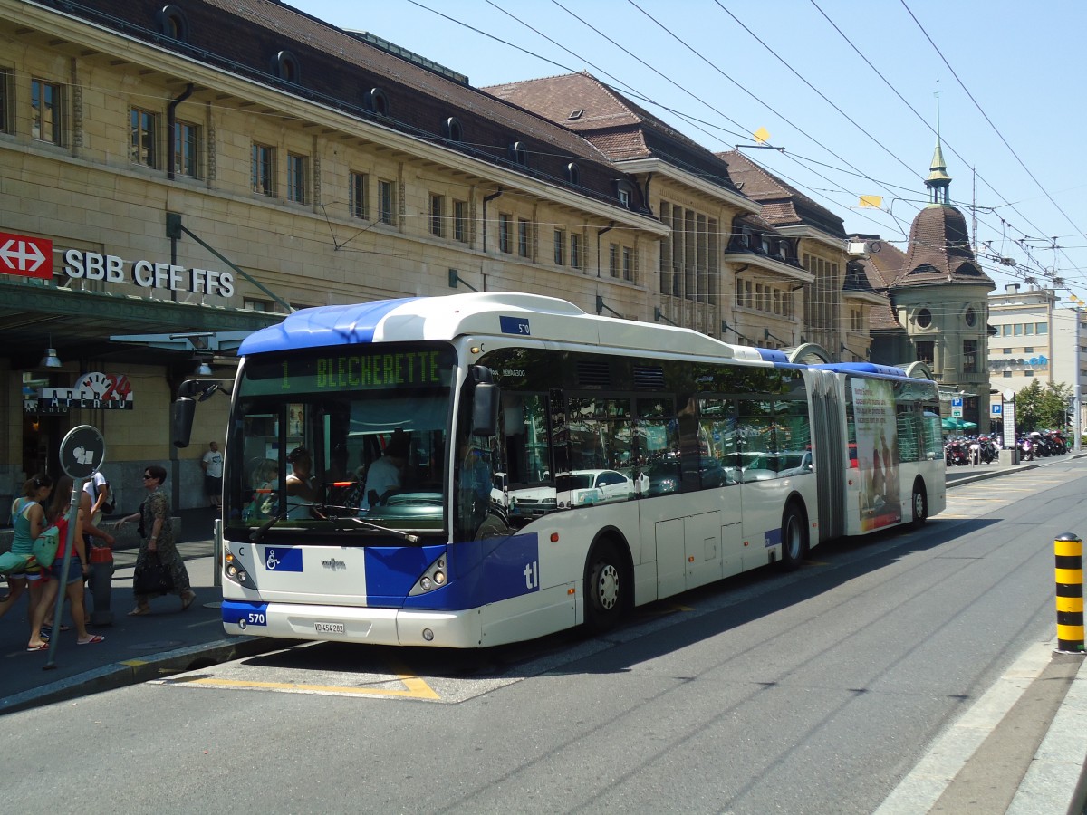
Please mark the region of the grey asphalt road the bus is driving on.
POLYGON ((972 765, 988 799, 915 770, 963 722, 996 732, 994 689, 1051 648, 1052 541, 1087 530, 1085 476, 1065 459, 960 486, 920 532, 821 547, 797 573, 688 592, 604 638, 482 654, 303 645, 12 713, 5 799, 91 813, 1001 812, 1017 766, 972 765))

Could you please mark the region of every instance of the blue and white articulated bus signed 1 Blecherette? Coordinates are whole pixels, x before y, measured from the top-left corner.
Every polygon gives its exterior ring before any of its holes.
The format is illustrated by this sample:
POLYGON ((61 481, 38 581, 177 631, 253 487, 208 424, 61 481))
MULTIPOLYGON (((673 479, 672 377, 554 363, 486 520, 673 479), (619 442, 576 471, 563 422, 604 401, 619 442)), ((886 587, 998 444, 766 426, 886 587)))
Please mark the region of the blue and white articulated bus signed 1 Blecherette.
POLYGON ((239 353, 229 634, 480 648, 603 630, 945 506, 936 384, 897 367, 792 364, 505 292, 308 309, 239 353))

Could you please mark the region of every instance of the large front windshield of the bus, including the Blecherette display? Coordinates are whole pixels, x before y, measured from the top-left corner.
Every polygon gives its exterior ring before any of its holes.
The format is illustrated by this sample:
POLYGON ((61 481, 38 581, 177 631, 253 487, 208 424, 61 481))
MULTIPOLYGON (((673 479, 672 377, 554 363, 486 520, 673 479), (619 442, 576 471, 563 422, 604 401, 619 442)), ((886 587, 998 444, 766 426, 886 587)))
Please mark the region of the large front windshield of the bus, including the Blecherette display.
POLYGON ((445 343, 248 358, 227 447, 227 537, 301 527, 387 542, 447 528, 454 365, 445 343))

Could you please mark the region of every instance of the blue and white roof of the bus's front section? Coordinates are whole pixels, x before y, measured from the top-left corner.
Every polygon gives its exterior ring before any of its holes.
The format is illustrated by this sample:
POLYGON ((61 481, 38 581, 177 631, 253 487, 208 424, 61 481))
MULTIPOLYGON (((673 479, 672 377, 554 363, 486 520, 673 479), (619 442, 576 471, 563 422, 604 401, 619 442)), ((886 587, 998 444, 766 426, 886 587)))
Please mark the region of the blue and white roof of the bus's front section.
POLYGON ((602 317, 541 294, 486 291, 443 297, 325 305, 289 314, 254 331, 238 353, 329 348, 368 342, 451 340, 463 335, 505 336, 759 362, 755 349, 729 346, 690 328, 602 317))

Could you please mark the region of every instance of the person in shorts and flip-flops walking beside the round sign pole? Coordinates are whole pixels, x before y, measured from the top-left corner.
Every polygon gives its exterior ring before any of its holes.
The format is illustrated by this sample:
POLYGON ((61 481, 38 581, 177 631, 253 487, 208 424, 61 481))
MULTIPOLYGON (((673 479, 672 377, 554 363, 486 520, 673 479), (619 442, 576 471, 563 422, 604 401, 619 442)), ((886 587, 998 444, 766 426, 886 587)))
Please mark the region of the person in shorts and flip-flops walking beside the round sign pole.
MULTIPOLYGON (((80 498, 85 496, 86 493, 80 492, 80 498)), ((30 616, 30 641, 27 643, 27 651, 43 651, 49 647, 49 636, 46 634, 51 636, 52 628, 46 626, 46 617, 55 614, 58 595, 61 591, 61 578, 64 576, 64 554, 67 551, 68 537, 67 512, 71 499, 72 479, 64 476, 57 482, 57 489, 53 490, 52 500, 46 510, 46 519, 57 527, 60 535, 60 546, 57 548, 57 559, 48 569, 48 577, 42 578, 41 597, 30 616)), ((83 580, 90 566, 87 563, 87 547, 84 543, 83 529, 80 528, 86 517, 87 513, 83 509, 76 513, 76 529, 72 538, 74 550, 68 563, 67 582, 64 586, 64 594, 72 605, 72 623, 75 625, 77 645, 92 645, 105 639, 99 634, 90 634, 87 630, 86 607, 83 603, 83 580)))

